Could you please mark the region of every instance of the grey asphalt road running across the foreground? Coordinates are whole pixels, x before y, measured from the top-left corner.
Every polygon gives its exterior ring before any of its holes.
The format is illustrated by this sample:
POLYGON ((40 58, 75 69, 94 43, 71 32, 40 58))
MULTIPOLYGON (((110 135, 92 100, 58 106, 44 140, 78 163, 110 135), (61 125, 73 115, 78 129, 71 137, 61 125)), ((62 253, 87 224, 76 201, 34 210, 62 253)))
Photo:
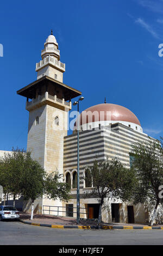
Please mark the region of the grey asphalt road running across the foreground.
POLYGON ((0 245, 163 245, 163 230, 82 230, 0 222, 0 245))

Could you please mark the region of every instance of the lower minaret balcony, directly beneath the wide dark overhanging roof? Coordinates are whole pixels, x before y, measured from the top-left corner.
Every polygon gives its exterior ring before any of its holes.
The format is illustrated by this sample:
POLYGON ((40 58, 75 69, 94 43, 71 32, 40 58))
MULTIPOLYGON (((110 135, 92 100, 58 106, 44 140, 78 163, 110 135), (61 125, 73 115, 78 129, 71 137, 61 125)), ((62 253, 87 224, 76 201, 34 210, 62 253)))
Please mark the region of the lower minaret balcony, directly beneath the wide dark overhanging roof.
POLYGON ((26 109, 31 111, 35 108, 39 108, 43 105, 50 105, 53 107, 60 108, 62 110, 71 110, 71 101, 67 102, 65 99, 59 99, 56 95, 52 96, 46 92, 44 95, 39 95, 36 99, 26 102, 26 109))

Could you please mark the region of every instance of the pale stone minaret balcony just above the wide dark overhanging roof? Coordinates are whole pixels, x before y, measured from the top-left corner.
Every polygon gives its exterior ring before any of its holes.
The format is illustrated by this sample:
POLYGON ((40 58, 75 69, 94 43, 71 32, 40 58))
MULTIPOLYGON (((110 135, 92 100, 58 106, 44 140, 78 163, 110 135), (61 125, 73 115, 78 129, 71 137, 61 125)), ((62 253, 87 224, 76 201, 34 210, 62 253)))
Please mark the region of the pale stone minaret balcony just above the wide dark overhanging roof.
POLYGON ((39 63, 36 63, 36 71, 39 71, 40 69, 44 68, 47 65, 54 66, 54 68, 62 72, 65 72, 65 63, 61 63, 60 60, 57 60, 51 56, 48 56, 40 60, 39 63))

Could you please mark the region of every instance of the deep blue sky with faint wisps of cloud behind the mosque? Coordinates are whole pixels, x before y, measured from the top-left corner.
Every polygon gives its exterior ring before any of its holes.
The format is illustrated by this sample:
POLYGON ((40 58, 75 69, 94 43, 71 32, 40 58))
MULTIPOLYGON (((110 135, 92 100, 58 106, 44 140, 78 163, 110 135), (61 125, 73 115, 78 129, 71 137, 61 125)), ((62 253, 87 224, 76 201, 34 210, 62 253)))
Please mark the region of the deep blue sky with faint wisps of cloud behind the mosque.
POLYGON ((163 0, 3 1, 0 21, 1 150, 27 147, 26 98, 16 90, 36 80, 51 29, 64 83, 85 97, 81 111, 106 96, 133 111, 148 135, 163 135, 163 0))

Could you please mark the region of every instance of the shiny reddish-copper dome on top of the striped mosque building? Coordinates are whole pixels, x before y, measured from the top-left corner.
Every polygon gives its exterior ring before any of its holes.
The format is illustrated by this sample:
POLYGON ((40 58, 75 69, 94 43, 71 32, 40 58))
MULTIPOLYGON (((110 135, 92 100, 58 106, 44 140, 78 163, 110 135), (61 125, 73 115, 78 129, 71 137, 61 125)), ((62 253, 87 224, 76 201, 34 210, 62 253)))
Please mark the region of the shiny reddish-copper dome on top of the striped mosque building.
MULTIPOLYGON (((80 125, 89 123, 89 113, 87 112, 94 112, 94 111, 97 111, 98 113, 100 113, 101 111, 104 112, 104 115, 102 115, 100 121, 107 121, 108 119, 107 119, 106 112, 110 111, 111 118, 109 118, 109 120, 111 121, 126 121, 129 123, 140 125, 140 122, 137 119, 136 115, 133 112, 131 112, 128 108, 122 107, 116 104, 110 104, 110 103, 98 104, 85 109, 84 112, 86 112, 86 118, 83 118, 82 120, 82 115, 84 117, 84 113, 82 112, 80 114, 80 125)), ((92 122, 95 122, 95 121, 97 120, 95 120, 95 116, 93 115, 92 122)))

